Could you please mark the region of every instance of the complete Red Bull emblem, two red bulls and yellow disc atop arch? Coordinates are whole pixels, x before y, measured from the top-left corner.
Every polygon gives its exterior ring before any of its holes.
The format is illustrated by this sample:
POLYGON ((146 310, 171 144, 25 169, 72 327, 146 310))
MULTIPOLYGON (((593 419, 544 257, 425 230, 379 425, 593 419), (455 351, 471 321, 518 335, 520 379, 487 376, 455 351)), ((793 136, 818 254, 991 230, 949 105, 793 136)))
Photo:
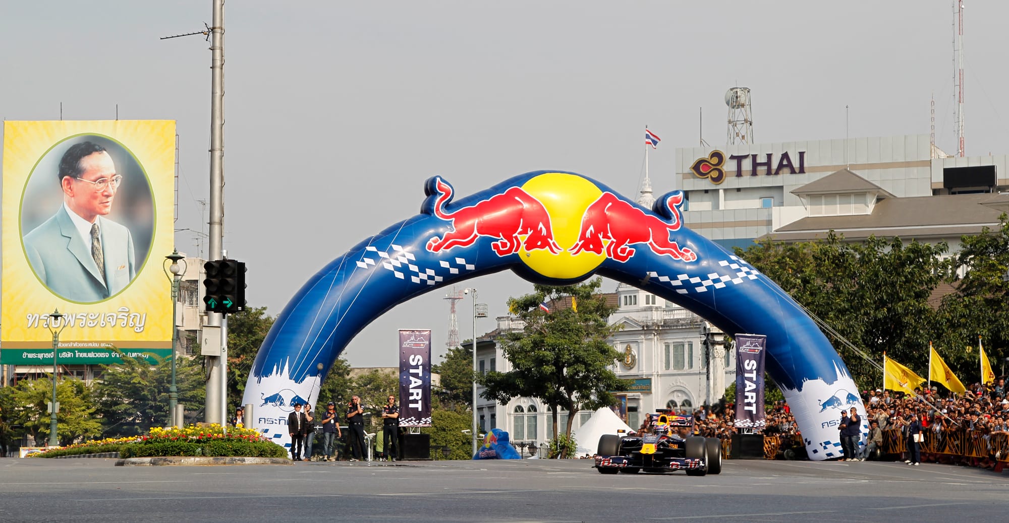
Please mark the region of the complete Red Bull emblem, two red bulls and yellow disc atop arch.
POLYGON ((670 235, 683 225, 683 193, 662 202, 659 214, 603 192, 575 174, 550 172, 522 186, 509 187, 472 206, 447 211, 452 186, 435 177, 428 185, 431 211, 451 222, 451 230, 431 238, 427 250, 438 253, 474 245, 480 237, 498 256, 519 254, 524 264, 550 278, 574 279, 591 273, 607 257, 626 262, 636 248, 691 262, 697 255, 670 235))

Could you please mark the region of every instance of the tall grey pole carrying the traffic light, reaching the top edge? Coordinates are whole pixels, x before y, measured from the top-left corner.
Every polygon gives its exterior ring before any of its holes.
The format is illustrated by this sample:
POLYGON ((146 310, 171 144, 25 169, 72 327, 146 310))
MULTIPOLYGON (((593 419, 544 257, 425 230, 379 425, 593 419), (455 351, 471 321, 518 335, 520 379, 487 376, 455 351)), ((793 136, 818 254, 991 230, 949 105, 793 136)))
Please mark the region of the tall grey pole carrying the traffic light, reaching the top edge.
MULTIPOLYGON (((211 98, 210 98, 210 252, 211 260, 220 260, 224 243, 224 0, 214 0, 214 21, 210 27, 211 98)), ((221 328, 221 354, 208 356, 206 419, 225 425, 227 416, 228 348, 227 323, 221 314, 207 313, 207 324, 221 328)))

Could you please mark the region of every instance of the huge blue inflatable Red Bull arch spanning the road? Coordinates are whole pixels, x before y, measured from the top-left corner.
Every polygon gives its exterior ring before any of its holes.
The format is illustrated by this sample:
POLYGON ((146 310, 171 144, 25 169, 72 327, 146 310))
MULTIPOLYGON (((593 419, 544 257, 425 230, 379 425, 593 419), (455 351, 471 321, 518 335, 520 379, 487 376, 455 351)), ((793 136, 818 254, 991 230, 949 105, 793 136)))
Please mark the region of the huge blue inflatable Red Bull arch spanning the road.
POLYGON ((855 406, 866 419, 848 367, 813 320, 745 260, 684 227, 682 191, 645 209, 562 171, 528 172, 459 200, 436 176, 425 191, 421 214, 330 262, 277 316, 242 398, 255 405, 253 426, 264 435, 290 444, 293 399, 314 404, 330 366, 374 318, 425 292, 506 269, 552 285, 598 274, 673 301, 725 333, 766 335, 767 371, 812 460, 840 455, 842 409, 855 406))

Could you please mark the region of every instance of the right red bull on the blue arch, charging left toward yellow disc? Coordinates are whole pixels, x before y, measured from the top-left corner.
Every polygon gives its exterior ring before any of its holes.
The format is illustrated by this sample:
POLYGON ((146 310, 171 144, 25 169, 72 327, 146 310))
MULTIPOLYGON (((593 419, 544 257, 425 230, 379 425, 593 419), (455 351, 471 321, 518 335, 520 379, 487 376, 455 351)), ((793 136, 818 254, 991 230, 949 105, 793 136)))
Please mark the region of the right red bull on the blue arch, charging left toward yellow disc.
POLYGON ((679 231, 683 224, 680 206, 683 192, 676 191, 666 197, 665 208, 671 223, 656 216, 647 215, 641 209, 621 200, 612 192, 603 192, 598 200, 588 206, 581 219, 578 243, 571 248, 573 254, 588 251, 599 254, 605 245, 606 256, 619 262, 626 262, 634 256, 635 244, 645 244, 655 254, 666 255, 674 260, 691 262, 697 255, 687 248, 681 248, 669 239, 669 233, 679 231), (608 242, 608 243, 604 243, 608 242))

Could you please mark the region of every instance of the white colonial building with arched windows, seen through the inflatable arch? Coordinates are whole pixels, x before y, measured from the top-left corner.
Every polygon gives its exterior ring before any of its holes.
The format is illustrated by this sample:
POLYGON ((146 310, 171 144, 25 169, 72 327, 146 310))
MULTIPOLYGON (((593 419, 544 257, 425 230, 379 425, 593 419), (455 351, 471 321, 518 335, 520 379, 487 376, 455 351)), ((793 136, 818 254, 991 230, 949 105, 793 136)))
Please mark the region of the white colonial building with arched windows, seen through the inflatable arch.
MULTIPOLYGON (((628 390, 612 391, 618 397, 618 415, 637 428, 646 413, 658 408, 692 412, 718 402, 736 375, 735 360, 725 350, 720 331, 683 307, 629 285, 620 285, 606 297, 619 305, 609 321, 622 328, 610 338, 621 353, 613 370, 632 380, 628 390)), ((497 317, 497 328, 477 342, 477 371, 511 371, 500 343, 507 333, 522 328, 522 321, 513 316, 497 317)), ((482 391, 477 388, 478 394, 482 391)), ((553 413, 538 399, 518 397, 501 405, 478 397, 476 413, 481 432, 504 429, 517 445, 539 446, 552 438, 553 413)), ((565 431, 568 423, 574 423, 576 430, 591 415, 582 411, 572 420, 561 412, 558 432, 565 431)))

